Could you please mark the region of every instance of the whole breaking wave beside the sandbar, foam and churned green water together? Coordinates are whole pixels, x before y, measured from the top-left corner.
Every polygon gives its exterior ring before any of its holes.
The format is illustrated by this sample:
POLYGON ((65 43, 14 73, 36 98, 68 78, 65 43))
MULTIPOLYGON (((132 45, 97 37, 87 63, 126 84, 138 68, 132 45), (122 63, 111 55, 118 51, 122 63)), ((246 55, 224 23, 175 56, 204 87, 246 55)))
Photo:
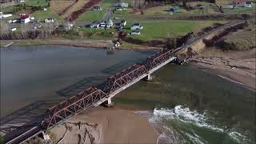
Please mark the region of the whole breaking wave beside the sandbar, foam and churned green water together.
POLYGON ((148 118, 158 131, 158 143, 186 143, 187 141, 198 144, 208 143, 197 130, 194 130, 194 126, 214 133, 226 134, 234 142, 251 142, 236 130, 218 126, 212 118, 206 116, 206 112, 199 113, 185 106, 175 106, 174 109, 155 108, 153 112, 137 111, 136 113, 148 118))

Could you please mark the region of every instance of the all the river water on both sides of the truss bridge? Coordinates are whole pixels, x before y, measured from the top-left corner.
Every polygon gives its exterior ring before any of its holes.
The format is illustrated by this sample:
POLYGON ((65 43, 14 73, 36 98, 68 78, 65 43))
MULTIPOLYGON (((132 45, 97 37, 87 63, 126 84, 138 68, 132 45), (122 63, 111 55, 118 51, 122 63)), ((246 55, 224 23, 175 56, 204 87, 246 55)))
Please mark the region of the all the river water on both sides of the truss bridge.
MULTIPOLYGON (((70 46, 1 49, 1 117, 34 118, 150 54, 70 46)), ((255 93, 192 66, 169 64, 114 102, 148 118, 158 142, 255 143, 255 93)))

